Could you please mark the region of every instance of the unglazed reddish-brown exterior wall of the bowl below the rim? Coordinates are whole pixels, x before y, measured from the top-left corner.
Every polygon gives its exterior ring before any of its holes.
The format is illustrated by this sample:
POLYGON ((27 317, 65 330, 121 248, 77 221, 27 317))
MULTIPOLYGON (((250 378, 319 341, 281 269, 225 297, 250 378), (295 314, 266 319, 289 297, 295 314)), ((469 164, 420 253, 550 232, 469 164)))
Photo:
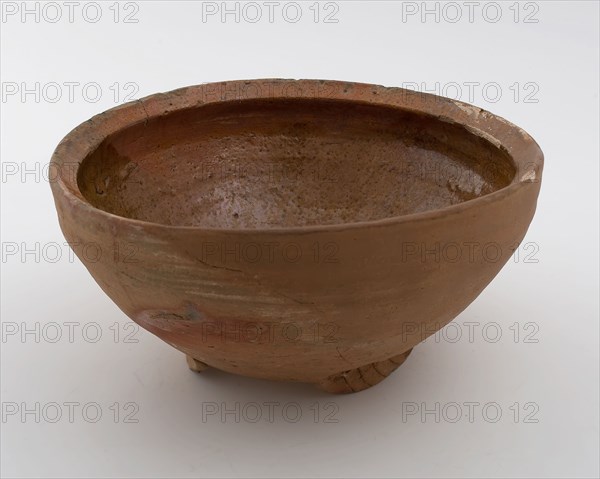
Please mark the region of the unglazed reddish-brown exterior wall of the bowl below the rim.
POLYGON ((53 191, 75 253, 140 326, 225 371, 315 382, 401 354, 454 319, 523 239, 539 188, 303 232, 164 228, 53 191))

